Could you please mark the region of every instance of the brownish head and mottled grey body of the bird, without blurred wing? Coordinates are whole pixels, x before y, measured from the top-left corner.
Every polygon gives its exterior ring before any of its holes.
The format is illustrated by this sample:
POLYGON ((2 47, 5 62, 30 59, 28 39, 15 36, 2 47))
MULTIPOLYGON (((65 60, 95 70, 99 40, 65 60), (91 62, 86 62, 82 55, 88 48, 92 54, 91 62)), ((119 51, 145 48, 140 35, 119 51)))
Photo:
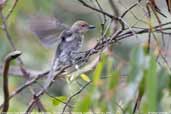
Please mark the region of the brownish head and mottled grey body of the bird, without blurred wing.
POLYGON ((59 36, 61 41, 56 49, 53 69, 57 69, 59 65, 74 64, 74 55, 79 53, 82 47, 84 34, 94 28, 94 25, 78 20, 69 29, 64 30, 59 36))

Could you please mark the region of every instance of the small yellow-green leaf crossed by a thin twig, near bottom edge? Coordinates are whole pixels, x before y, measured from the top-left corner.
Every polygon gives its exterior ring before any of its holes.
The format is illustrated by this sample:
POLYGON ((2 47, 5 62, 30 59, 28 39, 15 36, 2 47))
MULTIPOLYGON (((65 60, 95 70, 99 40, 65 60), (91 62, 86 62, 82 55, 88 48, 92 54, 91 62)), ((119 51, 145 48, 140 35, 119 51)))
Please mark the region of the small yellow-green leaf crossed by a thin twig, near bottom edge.
POLYGON ((65 102, 66 100, 67 100, 66 96, 55 97, 52 99, 52 104, 54 106, 58 106, 60 103, 65 102))

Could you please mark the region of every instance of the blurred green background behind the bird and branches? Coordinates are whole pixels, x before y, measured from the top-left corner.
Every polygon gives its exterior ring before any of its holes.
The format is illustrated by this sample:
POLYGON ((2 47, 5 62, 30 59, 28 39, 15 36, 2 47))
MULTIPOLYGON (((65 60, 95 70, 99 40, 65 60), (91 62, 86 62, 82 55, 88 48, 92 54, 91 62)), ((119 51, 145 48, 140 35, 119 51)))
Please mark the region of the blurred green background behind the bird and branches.
MULTIPOLYGON (((87 1, 89 1, 88 3, 90 3, 92 6, 95 5, 93 0, 87 1)), ((98 1, 105 11, 112 13, 108 1, 98 1)), ((122 13, 125 8, 129 7, 135 1, 136 0, 116 1, 120 13, 122 13)), ((7 4, 3 9, 4 14, 8 13, 13 3, 13 0, 7 1, 7 4)), ((163 4, 161 4, 160 7, 165 13, 167 13, 166 9, 163 9, 163 4)), ((137 14, 139 18, 144 18, 144 14, 140 8, 135 8, 133 12, 137 14)), ((97 27, 96 30, 86 34, 84 43, 85 50, 92 48, 100 38, 100 24, 102 22, 100 18, 102 15, 99 15, 96 12, 85 8, 77 0, 19 0, 16 8, 7 21, 7 25, 10 35, 12 36, 12 40, 14 41, 17 49, 23 52, 21 58, 24 61, 26 68, 38 71, 48 69, 55 51, 55 48, 45 48, 40 43, 39 39, 31 32, 29 28, 29 19, 32 15, 35 14, 55 16, 68 25, 72 25, 73 22, 80 19, 86 20, 90 24, 94 24, 97 27)), ((124 19, 130 26, 135 23, 135 19, 131 14, 128 14, 124 19)), ((170 16, 167 19, 162 19, 163 22, 168 21, 170 16)), ((156 23, 155 19, 154 23, 156 23)), ((138 23, 137 25, 146 26, 142 23, 138 23)), ((104 54, 104 57, 102 57, 102 60, 97 65, 96 70, 92 70, 86 73, 86 75, 91 80, 95 80, 95 82, 90 84, 88 88, 86 88, 85 91, 81 93, 81 95, 75 97, 74 101, 72 102, 72 104, 74 104, 73 111, 86 112, 94 110, 112 112, 114 114, 116 112, 122 112, 122 109, 118 107, 118 104, 125 106, 127 103, 126 111, 129 112, 133 107, 133 101, 135 101, 136 89, 134 87, 139 88, 143 77, 147 78, 148 76, 149 79, 147 79, 150 80, 150 82, 147 81, 146 86, 143 86, 143 90, 144 88, 147 90, 147 95, 143 100, 141 112, 145 113, 148 111, 171 111, 171 103, 169 102, 169 100, 171 101, 171 97, 168 89, 169 73, 166 71, 166 68, 157 68, 159 66, 154 61, 154 54, 145 55, 143 51, 143 44, 147 41, 147 35, 142 35, 139 37, 140 39, 131 38, 120 41, 114 45, 112 47, 112 55, 107 56, 104 54), (146 64, 147 66, 145 66, 146 64), (127 74, 128 81, 126 87, 124 85, 125 88, 121 87, 120 91, 118 91, 116 88, 120 82, 119 77, 121 75, 127 74), (166 78, 160 77, 161 75, 162 77, 166 78), (111 77, 107 79, 100 79, 100 76, 111 77), (160 82, 161 85, 159 84, 160 82), (152 93, 150 91, 152 91, 152 93)), ((10 44, 4 32, 1 30, 1 65, 3 64, 4 57, 10 51, 10 44)), ((17 65, 16 62, 13 62, 13 65, 17 65)), ((20 77, 10 77, 10 92, 14 91, 24 82, 25 80, 20 77)), ((41 83, 41 81, 39 83, 41 83)), ((49 89, 49 94, 53 96, 71 96, 81 87, 80 83, 81 85, 84 85, 86 81, 80 77, 72 82, 67 82, 65 80, 56 81, 55 84, 49 89)), ((2 85, 2 77, 0 77, 0 84, 2 85)), ((38 84, 33 85, 33 88, 36 91, 39 90, 39 87, 40 86, 38 84)), ((31 98, 32 96, 29 92, 29 89, 24 90, 21 92, 21 94, 17 95, 14 99, 11 100, 10 111, 25 111, 31 98)), ((0 103, 2 103, 2 101, 3 93, 1 90, 0 103)), ((55 104, 54 102, 57 101, 48 95, 44 95, 41 98, 41 101, 48 111, 61 111, 63 107, 62 103, 55 104)))

